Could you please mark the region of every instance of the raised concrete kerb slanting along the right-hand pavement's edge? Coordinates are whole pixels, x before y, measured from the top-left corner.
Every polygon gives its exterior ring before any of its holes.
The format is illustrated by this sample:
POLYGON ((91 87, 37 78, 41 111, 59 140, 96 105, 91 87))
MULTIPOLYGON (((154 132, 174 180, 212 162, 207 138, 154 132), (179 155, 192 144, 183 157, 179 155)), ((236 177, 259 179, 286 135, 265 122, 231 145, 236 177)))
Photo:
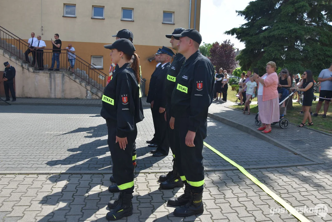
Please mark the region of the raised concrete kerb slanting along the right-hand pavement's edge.
POLYGON ((296 149, 294 149, 294 148, 292 148, 292 147, 290 147, 290 146, 288 146, 288 145, 286 145, 286 144, 284 144, 282 142, 279 142, 278 140, 276 140, 274 138, 271 138, 271 137, 269 137, 266 134, 261 133, 260 131, 252 129, 249 126, 243 125, 243 124, 241 124, 239 122, 235 122, 235 121, 232 121, 232 120, 229 120, 229 119, 226 119, 226 118, 223 118, 221 116, 218 116, 218 115, 216 115, 214 113, 210 113, 210 112, 207 114, 207 116, 210 117, 210 118, 212 118, 212 119, 215 119, 215 120, 217 120, 219 122, 222 122, 222 123, 224 123, 226 125, 230 125, 230 126, 236 128, 236 129, 239 129, 239 130, 241 130, 243 132, 246 132, 246 133, 248 133, 250 135, 253 135, 253 136, 255 136, 255 137, 259 138, 259 139, 267 141, 267 142, 269 142, 269 143, 271 143, 273 145, 276 145, 276 146, 278 146, 280 148, 286 149, 286 150, 288 150, 288 151, 290 151, 290 152, 292 152, 292 153, 294 153, 296 155, 303 156, 304 158, 306 158, 306 159, 308 159, 310 161, 316 162, 318 164, 324 163, 323 161, 320 161, 318 159, 309 157, 309 156, 307 156, 307 155, 305 155, 305 154, 297 151, 296 149))

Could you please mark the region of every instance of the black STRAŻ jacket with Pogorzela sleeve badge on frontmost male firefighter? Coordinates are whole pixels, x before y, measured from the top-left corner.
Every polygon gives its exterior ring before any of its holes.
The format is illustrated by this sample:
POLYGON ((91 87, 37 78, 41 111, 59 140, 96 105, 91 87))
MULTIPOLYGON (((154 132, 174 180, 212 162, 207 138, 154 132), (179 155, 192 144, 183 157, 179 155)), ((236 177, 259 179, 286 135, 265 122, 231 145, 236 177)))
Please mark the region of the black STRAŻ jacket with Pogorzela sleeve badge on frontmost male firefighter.
POLYGON ((182 66, 171 98, 172 116, 189 117, 190 131, 207 121, 214 91, 214 68, 198 50, 182 66))

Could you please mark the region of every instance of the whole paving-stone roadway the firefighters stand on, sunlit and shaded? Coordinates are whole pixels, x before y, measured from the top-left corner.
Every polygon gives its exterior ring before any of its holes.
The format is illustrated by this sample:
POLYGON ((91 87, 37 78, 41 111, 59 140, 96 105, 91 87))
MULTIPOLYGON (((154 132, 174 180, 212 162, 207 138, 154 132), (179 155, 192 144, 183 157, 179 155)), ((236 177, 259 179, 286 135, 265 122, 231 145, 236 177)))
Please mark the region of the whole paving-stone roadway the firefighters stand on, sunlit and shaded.
MULTIPOLYGON (((0 169, 12 172, 0 174, 0 221, 106 221, 107 202, 117 194, 107 190, 111 160, 99 111, 98 107, 0 106, 6 119, 0 129, 0 169), (17 174, 22 172, 27 174, 17 174), (49 174, 41 174, 45 172, 49 174)), ((277 202, 206 147, 205 211, 200 216, 174 217, 174 208, 166 201, 181 195, 183 188, 158 189, 160 172, 170 169, 172 157, 147 154, 150 149, 144 142, 152 137, 153 126, 149 110, 145 116, 138 126, 134 214, 120 221, 298 221, 281 213, 277 202)), ((208 122, 206 142, 245 168, 265 167, 248 172, 293 207, 305 208, 303 214, 310 221, 332 221, 329 156, 325 164, 315 164, 213 119, 208 122), (327 207, 324 217, 308 211, 317 204, 327 207)))

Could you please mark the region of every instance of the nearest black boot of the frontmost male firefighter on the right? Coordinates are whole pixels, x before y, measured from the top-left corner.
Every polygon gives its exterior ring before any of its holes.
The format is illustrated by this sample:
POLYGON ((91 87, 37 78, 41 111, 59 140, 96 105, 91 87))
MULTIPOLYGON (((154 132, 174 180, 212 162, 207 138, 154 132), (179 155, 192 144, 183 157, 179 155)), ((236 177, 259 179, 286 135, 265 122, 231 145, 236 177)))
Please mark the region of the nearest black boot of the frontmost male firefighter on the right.
POLYGON ((204 206, 202 202, 203 192, 191 193, 191 200, 186 205, 176 208, 173 212, 176 217, 189 217, 195 214, 202 214, 204 212, 204 206))

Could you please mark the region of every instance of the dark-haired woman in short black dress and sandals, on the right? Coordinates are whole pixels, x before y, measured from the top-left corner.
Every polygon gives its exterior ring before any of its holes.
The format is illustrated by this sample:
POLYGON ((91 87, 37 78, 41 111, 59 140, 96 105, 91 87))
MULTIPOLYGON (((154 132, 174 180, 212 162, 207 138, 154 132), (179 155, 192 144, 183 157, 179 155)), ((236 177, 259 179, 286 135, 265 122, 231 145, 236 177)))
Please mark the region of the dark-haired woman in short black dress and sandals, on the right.
POLYGON ((312 106, 312 100, 313 100, 313 78, 312 78, 312 72, 310 70, 307 70, 302 75, 303 81, 296 86, 295 89, 298 91, 303 92, 303 110, 304 110, 304 116, 301 124, 297 125, 297 127, 303 127, 305 126, 305 121, 308 119, 308 125, 313 125, 313 122, 311 120, 311 115, 309 113, 309 109, 312 106), (302 87, 300 89, 300 87, 302 87))

